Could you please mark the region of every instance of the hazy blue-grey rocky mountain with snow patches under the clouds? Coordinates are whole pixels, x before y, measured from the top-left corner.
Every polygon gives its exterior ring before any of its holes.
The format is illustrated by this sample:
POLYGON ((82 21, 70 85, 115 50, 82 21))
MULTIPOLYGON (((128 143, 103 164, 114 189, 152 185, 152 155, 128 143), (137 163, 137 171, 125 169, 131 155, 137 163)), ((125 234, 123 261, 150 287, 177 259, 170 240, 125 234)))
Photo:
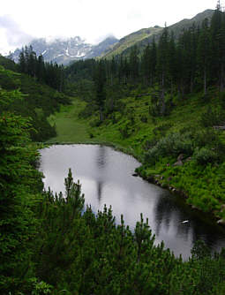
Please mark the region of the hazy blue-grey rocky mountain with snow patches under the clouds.
MULTIPOLYGON (((55 39, 50 42, 44 38, 35 39, 28 46, 31 45, 37 56, 42 55, 46 62, 70 64, 72 61, 79 59, 98 57, 104 50, 117 41, 115 37, 109 37, 97 45, 92 45, 86 43, 79 36, 76 36, 65 40, 55 39)), ((11 54, 11 58, 15 62, 19 61, 20 51, 21 49, 16 49, 11 54)))

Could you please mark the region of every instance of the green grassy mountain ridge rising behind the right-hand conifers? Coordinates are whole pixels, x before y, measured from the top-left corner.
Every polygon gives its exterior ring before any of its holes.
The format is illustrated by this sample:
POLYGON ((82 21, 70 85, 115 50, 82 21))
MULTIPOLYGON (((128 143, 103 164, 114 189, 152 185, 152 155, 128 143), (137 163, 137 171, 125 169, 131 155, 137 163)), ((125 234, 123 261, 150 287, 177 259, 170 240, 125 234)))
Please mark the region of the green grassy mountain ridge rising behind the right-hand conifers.
MULTIPOLYGON (((175 38, 178 38, 179 34, 182 33, 184 29, 188 29, 193 25, 200 26, 204 19, 211 19, 214 14, 214 10, 206 10, 200 12, 192 19, 183 19, 176 24, 169 26, 169 31, 173 31, 175 38)), ((124 38, 120 39, 113 47, 101 54, 101 57, 112 58, 113 56, 118 56, 120 54, 126 55, 130 51, 133 45, 137 45, 140 51, 147 45, 151 43, 153 38, 155 41, 160 38, 162 27, 154 26, 149 28, 143 28, 137 32, 128 34, 124 38)))

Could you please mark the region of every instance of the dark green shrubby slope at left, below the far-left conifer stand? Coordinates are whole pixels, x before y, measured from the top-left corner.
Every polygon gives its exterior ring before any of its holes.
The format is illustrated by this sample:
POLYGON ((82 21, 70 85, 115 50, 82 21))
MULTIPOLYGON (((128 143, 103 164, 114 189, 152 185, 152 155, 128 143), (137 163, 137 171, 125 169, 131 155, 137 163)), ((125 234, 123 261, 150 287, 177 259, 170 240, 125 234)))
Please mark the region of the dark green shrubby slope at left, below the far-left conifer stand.
MULTIPOLYGON (((13 68, 12 62, 4 57, 1 58, 0 64, 6 67, 10 65, 10 68, 13 68)), ((33 126, 29 132, 34 141, 48 140, 56 136, 56 128, 49 124, 48 117, 59 110, 60 104, 70 103, 68 96, 43 83, 38 83, 26 74, 6 70, 2 65, 0 65, 0 87, 4 91, 20 89, 23 98, 6 105, 4 109, 0 107, 0 113, 7 110, 29 118, 33 126)))

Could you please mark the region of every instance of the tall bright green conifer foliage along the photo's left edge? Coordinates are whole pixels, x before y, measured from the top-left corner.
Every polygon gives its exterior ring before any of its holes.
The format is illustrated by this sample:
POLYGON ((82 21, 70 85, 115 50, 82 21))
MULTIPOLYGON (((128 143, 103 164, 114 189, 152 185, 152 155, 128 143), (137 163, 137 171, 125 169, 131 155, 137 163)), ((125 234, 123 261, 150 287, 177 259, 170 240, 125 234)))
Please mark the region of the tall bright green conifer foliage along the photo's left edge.
POLYGON ((36 234, 35 194, 42 189, 41 175, 32 165, 37 158, 29 145, 30 123, 5 111, 22 100, 16 91, 0 90, 0 291, 24 290, 34 276, 32 243, 36 234))

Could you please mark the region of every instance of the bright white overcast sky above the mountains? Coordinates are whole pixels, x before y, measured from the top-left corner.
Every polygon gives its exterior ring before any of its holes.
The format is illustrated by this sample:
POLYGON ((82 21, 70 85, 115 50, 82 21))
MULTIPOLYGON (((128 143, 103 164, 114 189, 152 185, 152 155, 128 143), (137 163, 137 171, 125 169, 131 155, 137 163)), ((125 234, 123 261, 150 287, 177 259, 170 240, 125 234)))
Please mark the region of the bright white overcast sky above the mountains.
POLYGON ((8 0, 1 2, 0 53, 34 37, 74 37, 100 42, 122 38, 143 27, 170 26, 191 19, 215 0, 8 0))

